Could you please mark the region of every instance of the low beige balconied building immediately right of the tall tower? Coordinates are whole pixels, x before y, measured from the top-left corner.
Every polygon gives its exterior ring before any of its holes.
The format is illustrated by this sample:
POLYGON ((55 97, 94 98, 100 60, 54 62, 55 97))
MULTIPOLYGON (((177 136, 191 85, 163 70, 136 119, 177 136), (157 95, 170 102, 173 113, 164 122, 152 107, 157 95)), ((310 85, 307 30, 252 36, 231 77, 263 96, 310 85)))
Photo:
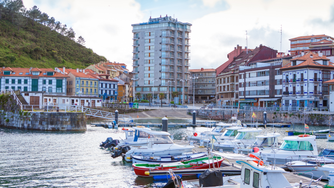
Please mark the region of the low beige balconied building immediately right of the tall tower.
MULTIPOLYGON (((191 69, 192 77, 198 77, 194 80, 195 83, 195 100, 193 93, 189 93, 189 103, 208 103, 215 97, 216 94, 216 70, 215 69, 191 69)), ((185 84, 188 84, 185 82, 185 84)), ((192 86, 193 87, 193 86, 192 86)))

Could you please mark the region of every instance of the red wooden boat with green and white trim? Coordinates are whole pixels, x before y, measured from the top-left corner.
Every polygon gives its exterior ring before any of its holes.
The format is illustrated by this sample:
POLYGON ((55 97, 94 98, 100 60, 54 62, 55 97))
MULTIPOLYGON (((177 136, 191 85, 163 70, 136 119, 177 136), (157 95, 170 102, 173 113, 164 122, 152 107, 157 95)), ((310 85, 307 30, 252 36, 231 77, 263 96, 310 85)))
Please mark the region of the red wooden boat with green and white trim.
MULTIPOLYGON (((198 169, 209 169, 213 168, 213 165, 215 168, 219 168, 221 165, 221 162, 224 159, 220 156, 218 157, 202 157, 198 159, 192 159, 188 161, 179 161, 174 163, 165 163, 165 164, 148 164, 148 163, 133 163, 132 167, 135 171, 137 176, 145 176, 150 177, 148 173, 145 173, 147 171, 157 171, 157 170, 165 170, 166 172, 170 169, 173 170, 173 172, 176 172, 177 170, 198 170, 198 169)), ((189 175, 195 175, 195 174, 188 174, 189 175)))

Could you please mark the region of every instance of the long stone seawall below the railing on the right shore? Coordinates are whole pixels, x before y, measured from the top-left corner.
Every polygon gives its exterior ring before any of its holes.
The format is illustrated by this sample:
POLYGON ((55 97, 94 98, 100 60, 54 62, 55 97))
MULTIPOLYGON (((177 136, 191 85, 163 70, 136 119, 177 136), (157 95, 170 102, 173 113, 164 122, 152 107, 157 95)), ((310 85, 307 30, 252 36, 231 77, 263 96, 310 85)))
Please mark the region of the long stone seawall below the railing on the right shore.
MULTIPOLYGON (((191 114, 191 109, 187 110, 188 114, 191 114)), ((211 118, 211 119, 219 119, 219 120, 227 120, 231 118, 231 116, 235 116, 236 110, 195 110, 196 116, 211 118)), ((263 123, 263 112, 264 111, 255 111, 257 118, 255 121, 259 123, 263 123)), ((305 113, 305 122, 308 125, 322 125, 328 126, 329 121, 331 120, 333 114, 328 113, 305 113)), ((252 111, 239 110, 238 119, 244 119, 245 121, 251 121, 252 119, 252 111)), ((297 111, 267 111, 267 123, 292 123, 295 124, 303 124, 304 123, 304 112, 297 111)))

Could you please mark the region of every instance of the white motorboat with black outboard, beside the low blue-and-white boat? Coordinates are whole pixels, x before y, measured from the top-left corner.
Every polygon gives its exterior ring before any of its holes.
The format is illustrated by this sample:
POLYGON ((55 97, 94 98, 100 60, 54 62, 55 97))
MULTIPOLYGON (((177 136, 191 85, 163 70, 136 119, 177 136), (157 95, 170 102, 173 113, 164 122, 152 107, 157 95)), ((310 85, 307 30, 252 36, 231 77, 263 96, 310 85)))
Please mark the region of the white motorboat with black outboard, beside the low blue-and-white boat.
MULTIPOLYGON (((181 146, 175 144, 169 137, 169 133, 165 131, 154 131, 154 130, 142 130, 148 134, 147 146, 135 146, 134 149, 129 150, 126 153, 122 153, 122 157, 126 161, 132 161, 132 156, 178 156, 182 153, 193 152, 195 146, 185 145, 181 146)), ((112 156, 117 157, 117 156, 112 156)))

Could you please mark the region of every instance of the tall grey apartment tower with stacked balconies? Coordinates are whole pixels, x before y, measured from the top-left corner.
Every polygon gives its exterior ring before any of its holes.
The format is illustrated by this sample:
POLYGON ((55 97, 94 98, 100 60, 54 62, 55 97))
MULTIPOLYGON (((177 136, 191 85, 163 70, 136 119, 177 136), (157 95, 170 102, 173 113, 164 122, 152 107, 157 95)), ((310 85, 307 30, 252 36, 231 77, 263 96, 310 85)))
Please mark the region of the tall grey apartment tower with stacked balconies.
POLYGON ((135 93, 140 92, 142 99, 153 91, 154 99, 159 98, 159 93, 165 93, 163 102, 170 102, 170 93, 177 91, 179 100, 183 98, 186 103, 191 90, 189 33, 192 24, 166 15, 131 26, 134 34, 132 73, 134 79, 139 78, 134 83, 135 93))

